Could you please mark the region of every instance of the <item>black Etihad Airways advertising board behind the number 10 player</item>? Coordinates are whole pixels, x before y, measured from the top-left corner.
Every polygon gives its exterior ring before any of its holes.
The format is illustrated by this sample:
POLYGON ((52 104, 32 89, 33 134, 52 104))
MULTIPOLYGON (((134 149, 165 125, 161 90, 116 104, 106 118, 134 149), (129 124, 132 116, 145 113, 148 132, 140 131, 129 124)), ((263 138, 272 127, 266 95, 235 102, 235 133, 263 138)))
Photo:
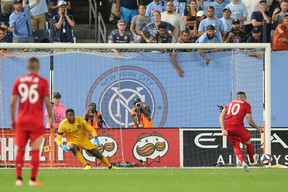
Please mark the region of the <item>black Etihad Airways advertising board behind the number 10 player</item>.
MULTIPOLYGON (((255 153, 260 156, 263 147, 263 135, 255 129, 249 129, 255 153), (260 148, 257 148, 259 147, 260 148)), ((183 132, 183 166, 235 166, 236 157, 233 148, 223 137, 220 128, 217 129, 184 129, 183 132)), ((288 128, 272 129, 271 150, 272 165, 282 164, 288 166, 288 128)), ((246 149, 241 146, 244 154, 246 149)), ((245 157, 247 159, 247 157, 245 157)))

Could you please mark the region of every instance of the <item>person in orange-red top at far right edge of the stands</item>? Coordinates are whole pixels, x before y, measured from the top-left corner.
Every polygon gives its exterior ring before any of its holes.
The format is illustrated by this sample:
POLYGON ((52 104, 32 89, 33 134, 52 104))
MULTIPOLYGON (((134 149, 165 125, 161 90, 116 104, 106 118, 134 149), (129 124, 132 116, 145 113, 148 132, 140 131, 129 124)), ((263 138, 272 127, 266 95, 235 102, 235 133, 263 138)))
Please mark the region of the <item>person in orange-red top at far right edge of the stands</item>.
POLYGON ((288 51, 288 13, 284 16, 284 21, 275 30, 273 38, 274 51, 288 51))

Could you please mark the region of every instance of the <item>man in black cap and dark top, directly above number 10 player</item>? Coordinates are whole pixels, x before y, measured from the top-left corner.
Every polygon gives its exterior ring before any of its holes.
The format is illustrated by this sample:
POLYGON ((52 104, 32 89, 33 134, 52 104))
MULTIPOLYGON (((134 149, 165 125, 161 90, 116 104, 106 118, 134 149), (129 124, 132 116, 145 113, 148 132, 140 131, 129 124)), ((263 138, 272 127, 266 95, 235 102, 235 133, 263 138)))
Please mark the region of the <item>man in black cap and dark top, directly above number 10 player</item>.
POLYGON ((232 29, 225 34, 224 43, 242 43, 246 34, 240 30, 240 21, 234 19, 232 21, 232 29))

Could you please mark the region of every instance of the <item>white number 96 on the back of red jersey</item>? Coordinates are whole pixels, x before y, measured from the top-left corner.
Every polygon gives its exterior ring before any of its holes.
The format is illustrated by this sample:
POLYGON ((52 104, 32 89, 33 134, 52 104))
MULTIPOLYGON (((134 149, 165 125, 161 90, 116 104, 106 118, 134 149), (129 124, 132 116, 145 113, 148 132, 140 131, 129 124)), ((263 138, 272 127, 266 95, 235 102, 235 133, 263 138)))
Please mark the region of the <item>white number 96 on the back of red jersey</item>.
POLYGON ((20 102, 24 103, 27 100, 29 103, 34 104, 38 101, 39 99, 39 93, 37 92, 38 84, 33 84, 30 87, 28 87, 27 84, 21 83, 18 86, 18 92, 20 94, 20 102))

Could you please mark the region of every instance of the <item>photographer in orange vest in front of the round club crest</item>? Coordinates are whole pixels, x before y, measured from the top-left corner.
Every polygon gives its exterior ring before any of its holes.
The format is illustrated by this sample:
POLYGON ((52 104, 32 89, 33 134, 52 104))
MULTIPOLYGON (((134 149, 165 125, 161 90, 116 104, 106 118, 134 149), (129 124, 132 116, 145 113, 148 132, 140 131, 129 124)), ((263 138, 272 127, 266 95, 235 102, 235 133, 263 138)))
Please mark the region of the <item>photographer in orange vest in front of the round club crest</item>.
POLYGON ((149 106, 142 103, 140 99, 135 99, 133 106, 131 117, 134 121, 134 128, 152 128, 153 121, 149 106))

